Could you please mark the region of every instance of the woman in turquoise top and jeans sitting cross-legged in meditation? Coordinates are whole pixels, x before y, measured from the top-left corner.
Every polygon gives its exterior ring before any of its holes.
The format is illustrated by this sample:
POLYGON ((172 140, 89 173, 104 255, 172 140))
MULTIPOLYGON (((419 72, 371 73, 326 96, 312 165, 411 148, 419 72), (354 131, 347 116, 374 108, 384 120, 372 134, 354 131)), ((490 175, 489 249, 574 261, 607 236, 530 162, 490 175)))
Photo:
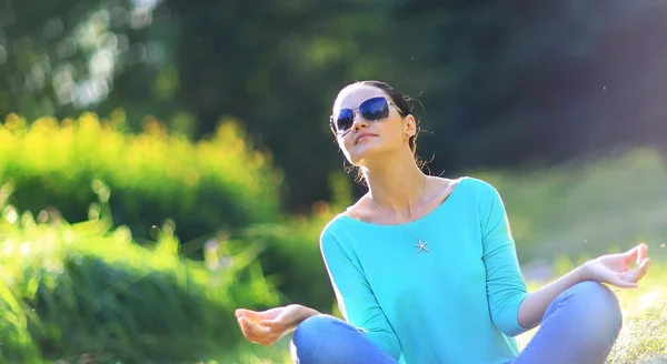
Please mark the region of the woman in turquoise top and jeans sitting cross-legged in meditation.
POLYGON ((270 345, 293 331, 300 364, 605 361, 623 320, 601 283, 637 287, 645 244, 528 293, 498 192, 478 179, 421 172, 405 97, 384 82, 350 84, 334 103, 331 129, 368 186, 320 237, 346 321, 298 304, 238 310, 250 341, 270 345), (514 336, 538 325, 519 352, 514 336))

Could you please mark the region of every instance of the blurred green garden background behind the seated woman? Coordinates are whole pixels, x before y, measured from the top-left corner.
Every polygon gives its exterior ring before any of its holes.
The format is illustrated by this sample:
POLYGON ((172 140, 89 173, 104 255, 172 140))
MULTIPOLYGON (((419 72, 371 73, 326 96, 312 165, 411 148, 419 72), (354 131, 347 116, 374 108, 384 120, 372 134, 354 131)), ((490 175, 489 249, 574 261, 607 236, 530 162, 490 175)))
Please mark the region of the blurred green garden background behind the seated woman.
POLYGON ((318 237, 364 193, 328 127, 356 80, 417 97, 429 173, 498 188, 527 279, 640 241, 661 266, 665 19, 666 1, 0 2, 0 362, 273 363, 235 309, 337 314, 318 237))

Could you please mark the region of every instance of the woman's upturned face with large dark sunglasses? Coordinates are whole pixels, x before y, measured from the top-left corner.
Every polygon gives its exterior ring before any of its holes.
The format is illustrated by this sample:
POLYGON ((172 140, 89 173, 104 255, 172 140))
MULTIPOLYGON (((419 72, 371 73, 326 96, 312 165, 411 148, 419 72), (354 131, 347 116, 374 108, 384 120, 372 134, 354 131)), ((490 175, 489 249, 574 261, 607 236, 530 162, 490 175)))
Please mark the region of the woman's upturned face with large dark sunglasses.
POLYGON ((342 89, 332 115, 338 145, 354 165, 401 148, 409 150, 408 140, 416 132, 412 115, 404 118, 385 91, 368 84, 342 89))

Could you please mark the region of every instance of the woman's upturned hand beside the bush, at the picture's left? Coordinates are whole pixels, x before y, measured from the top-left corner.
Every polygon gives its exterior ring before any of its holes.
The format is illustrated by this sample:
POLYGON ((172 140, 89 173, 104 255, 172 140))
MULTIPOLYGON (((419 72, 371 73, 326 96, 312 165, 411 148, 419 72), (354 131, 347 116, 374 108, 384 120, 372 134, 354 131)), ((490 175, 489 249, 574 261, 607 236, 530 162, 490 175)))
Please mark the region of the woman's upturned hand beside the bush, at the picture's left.
POLYGON ((289 334, 299 323, 313 314, 317 312, 296 304, 260 312, 245 309, 236 311, 243 335, 249 341, 266 346, 289 334))

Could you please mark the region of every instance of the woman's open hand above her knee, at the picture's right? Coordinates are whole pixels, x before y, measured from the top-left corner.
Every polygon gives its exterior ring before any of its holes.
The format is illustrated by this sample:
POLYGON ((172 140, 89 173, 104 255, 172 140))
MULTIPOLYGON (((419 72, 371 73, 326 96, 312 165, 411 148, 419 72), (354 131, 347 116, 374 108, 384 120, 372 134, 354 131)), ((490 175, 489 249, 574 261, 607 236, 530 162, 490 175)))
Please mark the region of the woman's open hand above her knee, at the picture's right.
POLYGON ((647 249, 648 246, 641 243, 625 253, 607 254, 590 260, 581 266, 584 279, 624 289, 636 289, 650 263, 650 259, 646 256, 647 249), (631 269, 634 262, 637 265, 631 269))

